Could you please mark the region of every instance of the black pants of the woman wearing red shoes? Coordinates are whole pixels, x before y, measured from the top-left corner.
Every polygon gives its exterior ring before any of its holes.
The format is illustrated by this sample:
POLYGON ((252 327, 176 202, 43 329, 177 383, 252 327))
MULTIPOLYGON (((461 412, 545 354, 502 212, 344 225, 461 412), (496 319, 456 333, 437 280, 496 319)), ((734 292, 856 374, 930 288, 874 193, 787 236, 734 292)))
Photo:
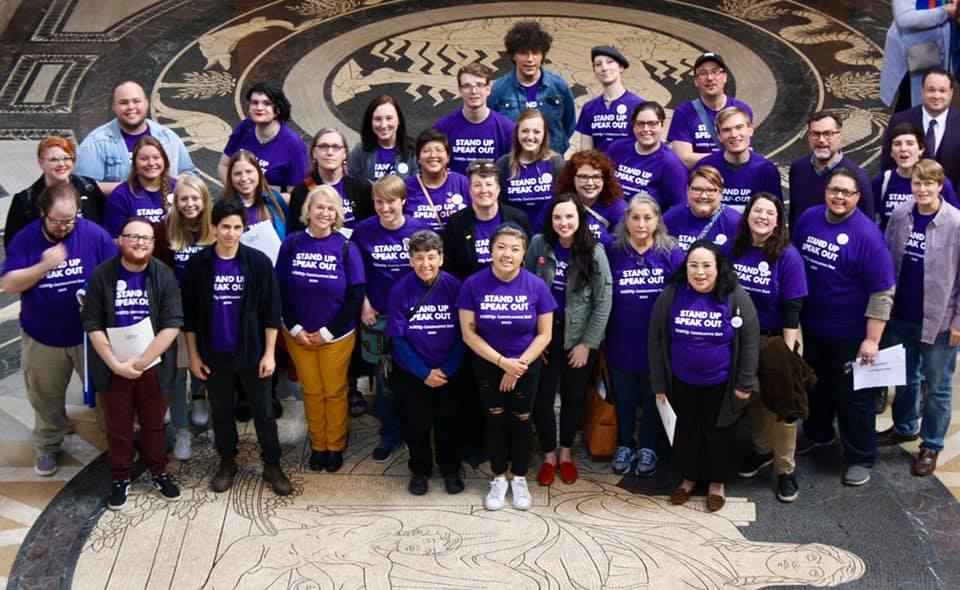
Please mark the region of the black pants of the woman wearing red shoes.
POLYGON ((583 407, 587 397, 587 383, 597 362, 597 351, 591 350, 587 364, 579 369, 570 366, 567 350, 563 349, 563 316, 553 322, 553 339, 547 347, 547 363, 540 371, 533 406, 533 422, 537 427, 540 450, 549 453, 557 448, 557 415, 553 411, 560 386, 560 446, 570 448, 577 431, 583 425, 583 407))

